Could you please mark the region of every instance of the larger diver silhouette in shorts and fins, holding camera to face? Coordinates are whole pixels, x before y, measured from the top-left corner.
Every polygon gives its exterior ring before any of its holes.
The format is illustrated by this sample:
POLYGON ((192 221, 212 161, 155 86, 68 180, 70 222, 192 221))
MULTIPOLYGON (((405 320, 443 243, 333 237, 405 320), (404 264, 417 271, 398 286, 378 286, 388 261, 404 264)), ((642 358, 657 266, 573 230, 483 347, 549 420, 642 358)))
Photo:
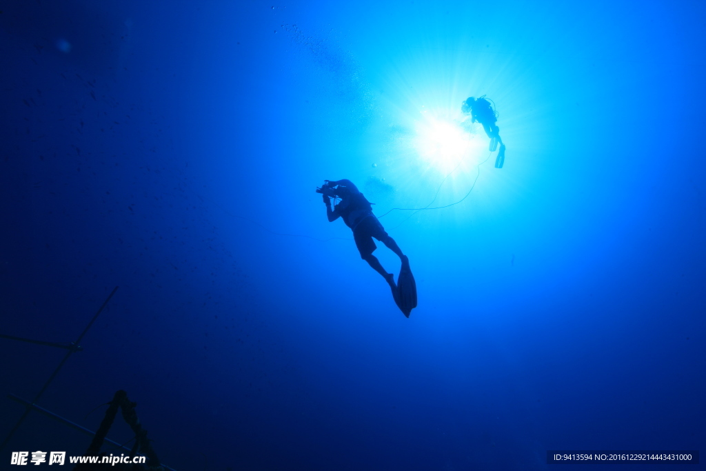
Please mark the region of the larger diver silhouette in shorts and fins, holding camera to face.
POLYGON ((409 313, 417 307, 417 285, 409 269, 409 258, 402 254, 402 250, 397 246, 395 239, 390 237, 378 218, 373 214, 371 203, 363 196, 352 181, 347 179, 330 181, 324 180, 321 188, 316 189, 316 193, 323 194, 323 202, 326 205, 326 216, 328 222, 333 222, 339 217, 353 231, 353 239, 360 252, 361 258, 380 273, 385 281, 390 285, 393 292, 395 304, 400 311, 409 317, 409 313), (331 207, 331 198, 340 198, 340 203, 331 207), (373 237, 385 244, 391 251, 395 252, 402 261, 400 275, 395 284, 395 275, 388 273, 381 265, 373 251, 377 249, 373 237))

